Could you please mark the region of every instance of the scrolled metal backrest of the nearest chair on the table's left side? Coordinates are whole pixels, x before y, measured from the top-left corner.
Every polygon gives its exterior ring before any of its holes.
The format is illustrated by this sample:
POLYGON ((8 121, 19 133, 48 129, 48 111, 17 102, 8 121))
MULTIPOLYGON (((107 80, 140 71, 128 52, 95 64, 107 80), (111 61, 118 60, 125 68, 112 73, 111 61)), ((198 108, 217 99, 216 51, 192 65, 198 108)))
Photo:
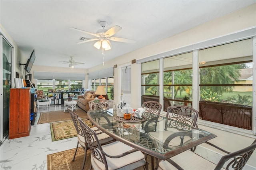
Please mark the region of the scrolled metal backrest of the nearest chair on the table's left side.
POLYGON ((87 145, 89 146, 91 150, 91 156, 93 156, 98 161, 102 162, 102 164, 105 165, 106 170, 108 170, 108 164, 106 161, 106 156, 104 155, 104 152, 102 150, 102 146, 100 144, 100 141, 98 139, 98 136, 94 130, 92 130, 90 127, 88 127, 82 119, 79 117, 78 121, 80 123, 80 126, 82 128, 82 132, 85 137, 85 141, 87 141, 87 145))

